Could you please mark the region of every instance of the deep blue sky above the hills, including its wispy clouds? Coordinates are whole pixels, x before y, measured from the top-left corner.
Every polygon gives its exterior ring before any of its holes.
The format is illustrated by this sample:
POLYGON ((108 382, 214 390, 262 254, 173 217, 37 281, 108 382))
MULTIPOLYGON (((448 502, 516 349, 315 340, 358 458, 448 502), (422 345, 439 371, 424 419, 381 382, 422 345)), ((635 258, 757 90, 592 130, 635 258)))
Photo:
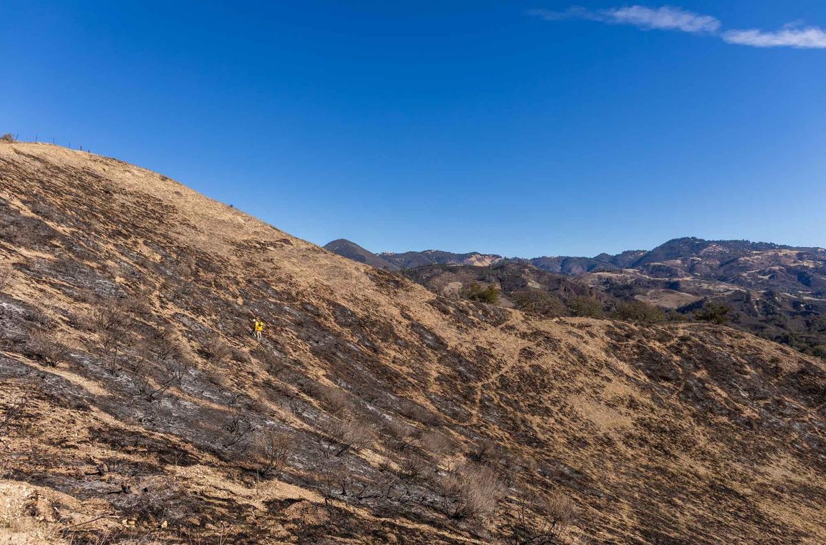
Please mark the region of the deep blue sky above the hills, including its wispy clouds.
POLYGON ((0 131, 317 244, 826 245, 826 3, 664 6, 3 2, 0 131))

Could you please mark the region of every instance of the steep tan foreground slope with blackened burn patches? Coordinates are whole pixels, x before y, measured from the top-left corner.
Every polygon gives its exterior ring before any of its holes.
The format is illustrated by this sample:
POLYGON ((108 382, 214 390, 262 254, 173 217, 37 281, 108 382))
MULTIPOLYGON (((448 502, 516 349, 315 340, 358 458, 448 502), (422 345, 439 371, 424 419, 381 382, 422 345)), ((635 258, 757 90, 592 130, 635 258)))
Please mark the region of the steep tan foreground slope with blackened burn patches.
POLYGON ((826 533, 826 372, 779 345, 444 299, 50 145, 0 145, 0 229, 11 543, 525 543, 533 495, 564 543, 826 533))

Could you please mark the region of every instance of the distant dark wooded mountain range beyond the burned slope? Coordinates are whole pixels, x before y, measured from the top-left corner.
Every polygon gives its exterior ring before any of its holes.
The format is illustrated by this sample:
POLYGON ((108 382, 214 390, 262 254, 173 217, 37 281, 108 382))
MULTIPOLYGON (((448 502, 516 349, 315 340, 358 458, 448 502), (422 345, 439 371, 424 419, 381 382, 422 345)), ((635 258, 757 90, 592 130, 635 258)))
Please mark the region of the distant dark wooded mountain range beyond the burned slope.
POLYGON ((583 296, 600 301, 606 311, 618 301, 636 300, 686 317, 714 302, 728 309, 734 327, 826 357, 823 248, 695 237, 592 258, 505 258, 440 250, 372 254, 347 240, 325 248, 401 271, 444 295, 459 296, 473 282, 494 284, 501 290, 502 306, 539 309, 546 315, 577 315, 575 306, 583 296))

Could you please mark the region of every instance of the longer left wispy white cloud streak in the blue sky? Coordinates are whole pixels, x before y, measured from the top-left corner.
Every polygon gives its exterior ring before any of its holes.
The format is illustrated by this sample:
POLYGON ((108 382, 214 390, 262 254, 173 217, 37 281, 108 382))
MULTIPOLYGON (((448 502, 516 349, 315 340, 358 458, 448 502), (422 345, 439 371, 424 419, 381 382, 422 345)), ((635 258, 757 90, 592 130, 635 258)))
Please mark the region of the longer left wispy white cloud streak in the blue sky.
POLYGON ((687 12, 679 7, 613 7, 602 10, 589 10, 584 7, 570 7, 563 12, 544 9, 529 11, 530 15, 541 17, 546 21, 563 19, 586 19, 615 25, 633 25, 645 30, 657 29, 683 32, 716 32, 720 21, 708 15, 687 12))

